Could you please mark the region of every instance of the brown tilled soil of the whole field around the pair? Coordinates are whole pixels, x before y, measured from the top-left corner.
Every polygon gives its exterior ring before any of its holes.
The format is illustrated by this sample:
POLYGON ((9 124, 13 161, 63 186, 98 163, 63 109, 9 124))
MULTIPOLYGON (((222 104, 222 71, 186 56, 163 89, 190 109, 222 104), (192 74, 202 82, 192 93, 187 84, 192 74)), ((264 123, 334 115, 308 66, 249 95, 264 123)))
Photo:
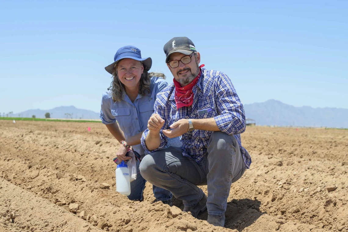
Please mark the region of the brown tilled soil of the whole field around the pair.
POLYGON ((0 129, 0 232, 348 231, 348 130, 247 127, 253 164, 231 187, 222 228, 207 212, 181 212, 179 200, 152 203, 149 183, 142 202, 116 192, 119 144, 102 124, 0 121, 0 129))

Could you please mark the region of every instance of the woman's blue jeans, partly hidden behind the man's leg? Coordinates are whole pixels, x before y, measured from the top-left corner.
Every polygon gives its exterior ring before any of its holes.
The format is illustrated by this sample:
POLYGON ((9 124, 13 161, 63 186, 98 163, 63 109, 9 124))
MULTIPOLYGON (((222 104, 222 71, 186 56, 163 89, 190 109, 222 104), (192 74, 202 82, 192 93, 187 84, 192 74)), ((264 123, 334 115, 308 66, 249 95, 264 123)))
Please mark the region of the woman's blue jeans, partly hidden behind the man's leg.
MULTIPOLYGON (((180 137, 168 138, 167 145, 164 148, 167 147, 181 147, 182 143, 180 141, 180 137)), ((128 196, 129 200, 142 200, 143 199, 143 191, 145 188, 146 180, 141 176, 140 170, 139 170, 140 161, 136 161, 136 180, 130 182, 130 194, 128 196)), ((153 195, 155 195, 156 200, 164 201, 172 199, 172 193, 166 189, 162 189, 159 187, 156 187, 155 185, 152 186, 153 195)))

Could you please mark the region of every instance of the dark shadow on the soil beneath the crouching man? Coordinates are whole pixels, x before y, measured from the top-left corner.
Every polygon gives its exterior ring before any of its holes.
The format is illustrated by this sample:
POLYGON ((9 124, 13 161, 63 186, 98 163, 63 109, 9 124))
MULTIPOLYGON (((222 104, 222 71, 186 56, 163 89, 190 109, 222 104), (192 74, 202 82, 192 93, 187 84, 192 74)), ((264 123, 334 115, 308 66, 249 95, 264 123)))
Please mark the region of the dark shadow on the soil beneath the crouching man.
MULTIPOLYGON (((173 205, 184 208, 181 200, 174 199, 173 205)), ((225 212, 226 221, 225 227, 229 229, 237 229, 242 231, 245 227, 252 225, 263 213, 260 211, 261 201, 251 199, 233 199, 227 202, 227 209, 225 212)), ((198 215, 198 219, 207 220, 208 212, 202 212, 198 215)))

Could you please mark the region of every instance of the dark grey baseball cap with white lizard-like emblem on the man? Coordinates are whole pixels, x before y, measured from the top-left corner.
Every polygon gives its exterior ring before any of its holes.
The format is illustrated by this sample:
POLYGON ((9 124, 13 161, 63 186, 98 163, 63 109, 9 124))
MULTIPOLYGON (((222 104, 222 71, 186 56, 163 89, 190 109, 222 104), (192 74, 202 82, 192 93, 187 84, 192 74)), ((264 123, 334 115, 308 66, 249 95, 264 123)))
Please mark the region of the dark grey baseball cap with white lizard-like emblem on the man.
POLYGON ((164 45, 163 50, 166 54, 166 63, 168 63, 168 58, 173 52, 180 52, 185 55, 197 52, 195 44, 187 37, 174 37, 164 45))

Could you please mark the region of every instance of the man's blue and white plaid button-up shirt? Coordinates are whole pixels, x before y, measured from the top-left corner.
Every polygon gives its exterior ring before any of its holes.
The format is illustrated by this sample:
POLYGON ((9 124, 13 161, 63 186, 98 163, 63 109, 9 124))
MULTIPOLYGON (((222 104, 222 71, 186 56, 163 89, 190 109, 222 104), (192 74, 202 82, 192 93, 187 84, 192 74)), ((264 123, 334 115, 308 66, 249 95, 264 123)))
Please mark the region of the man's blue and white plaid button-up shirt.
MULTIPOLYGON (((248 151, 242 147, 240 133, 245 131, 245 115, 242 102, 240 102, 236 90, 230 78, 219 71, 201 69, 203 75, 197 84, 193 86, 193 104, 191 107, 176 108, 174 84, 168 85, 157 94, 154 114, 159 114, 165 120, 162 130, 169 129, 174 122, 186 119, 204 119, 214 117, 217 127, 226 134, 233 134, 238 141, 244 163, 250 167, 251 157, 248 151), (212 108, 206 114, 198 115, 197 111, 212 108)), ((163 148, 167 143, 167 137, 160 131, 160 146, 149 151, 145 144, 145 138, 149 133, 146 129, 141 138, 141 144, 146 152, 151 153, 163 148)), ((183 156, 196 160, 197 163, 207 153, 209 139, 213 131, 193 130, 182 135, 183 156)))

